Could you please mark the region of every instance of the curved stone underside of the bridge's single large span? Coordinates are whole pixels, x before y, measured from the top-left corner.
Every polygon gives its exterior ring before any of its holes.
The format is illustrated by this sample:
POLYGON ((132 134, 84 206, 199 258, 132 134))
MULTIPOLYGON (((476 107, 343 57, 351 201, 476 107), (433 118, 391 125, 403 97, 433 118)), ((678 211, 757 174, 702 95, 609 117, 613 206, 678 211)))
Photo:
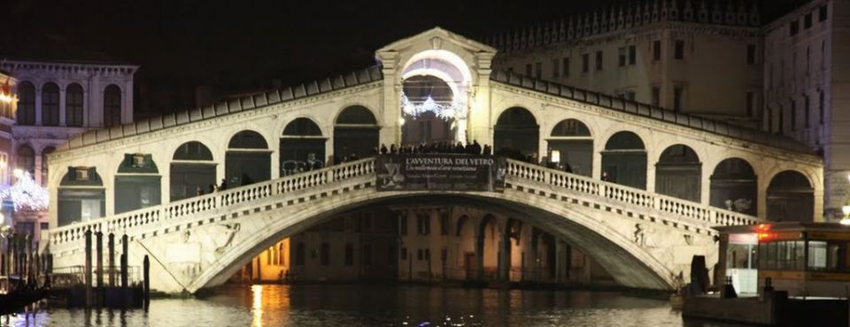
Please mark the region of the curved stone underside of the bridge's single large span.
POLYGON ((560 203, 535 203, 535 206, 531 206, 521 202, 522 194, 515 194, 515 198, 512 198, 508 193, 412 194, 367 191, 348 197, 342 204, 317 203, 286 215, 276 215, 272 211, 270 217, 263 218, 267 222, 264 228, 259 228, 247 236, 246 240, 239 241, 228 249, 186 287, 189 292, 196 292, 200 288, 223 284, 244 264, 250 262, 251 258, 279 240, 352 209, 405 203, 444 205, 452 202, 491 212, 502 212, 511 217, 522 217, 520 220, 524 223, 537 226, 590 255, 621 285, 660 290, 672 287, 670 272, 661 262, 610 226, 560 203))

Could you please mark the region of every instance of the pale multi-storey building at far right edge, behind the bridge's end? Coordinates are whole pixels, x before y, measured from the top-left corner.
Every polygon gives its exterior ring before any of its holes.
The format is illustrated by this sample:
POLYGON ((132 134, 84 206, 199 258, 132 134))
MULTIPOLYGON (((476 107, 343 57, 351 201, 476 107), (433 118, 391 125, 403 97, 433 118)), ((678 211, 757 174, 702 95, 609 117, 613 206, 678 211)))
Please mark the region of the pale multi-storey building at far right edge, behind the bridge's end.
POLYGON ((812 1, 763 28, 762 129, 823 156, 824 216, 850 203, 850 2, 812 1))

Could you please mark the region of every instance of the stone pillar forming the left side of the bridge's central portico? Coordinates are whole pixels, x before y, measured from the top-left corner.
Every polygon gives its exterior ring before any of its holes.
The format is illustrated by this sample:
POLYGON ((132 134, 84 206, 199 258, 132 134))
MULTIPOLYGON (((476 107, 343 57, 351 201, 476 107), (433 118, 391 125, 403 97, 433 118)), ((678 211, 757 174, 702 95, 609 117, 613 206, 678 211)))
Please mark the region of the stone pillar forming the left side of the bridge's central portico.
POLYGON ((401 91, 401 77, 397 72, 398 52, 379 51, 378 58, 383 65, 383 108, 378 113, 378 124, 381 125, 379 144, 401 143, 401 103, 398 93, 401 91))

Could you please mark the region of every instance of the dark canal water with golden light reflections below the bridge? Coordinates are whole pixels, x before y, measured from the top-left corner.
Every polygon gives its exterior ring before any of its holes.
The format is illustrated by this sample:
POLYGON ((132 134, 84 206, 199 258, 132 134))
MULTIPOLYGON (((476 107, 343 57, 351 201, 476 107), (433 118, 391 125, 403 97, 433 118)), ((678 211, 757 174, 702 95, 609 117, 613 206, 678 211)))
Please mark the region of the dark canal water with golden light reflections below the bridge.
POLYGON ((39 310, 0 326, 730 326, 683 320, 664 300, 619 293, 417 285, 227 286, 134 310, 39 310))

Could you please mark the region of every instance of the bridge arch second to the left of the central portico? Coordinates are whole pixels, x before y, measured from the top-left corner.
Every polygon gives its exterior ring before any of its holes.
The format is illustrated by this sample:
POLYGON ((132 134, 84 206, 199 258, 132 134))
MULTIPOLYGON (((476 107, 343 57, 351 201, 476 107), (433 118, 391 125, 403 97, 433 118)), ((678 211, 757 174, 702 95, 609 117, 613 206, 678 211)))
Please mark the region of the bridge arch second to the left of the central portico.
POLYGON ((297 118, 287 124, 281 136, 281 176, 323 167, 325 141, 319 125, 309 118, 297 118))

